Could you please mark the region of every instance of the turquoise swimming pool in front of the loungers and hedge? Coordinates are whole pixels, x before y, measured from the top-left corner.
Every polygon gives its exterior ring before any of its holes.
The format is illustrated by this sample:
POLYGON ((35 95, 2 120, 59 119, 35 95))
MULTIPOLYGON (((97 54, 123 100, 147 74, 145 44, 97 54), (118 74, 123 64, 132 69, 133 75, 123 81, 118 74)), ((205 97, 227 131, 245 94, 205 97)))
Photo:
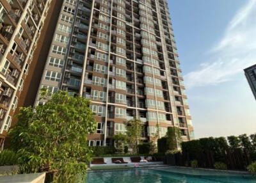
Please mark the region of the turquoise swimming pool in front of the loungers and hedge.
POLYGON ((92 171, 88 183, 255 183, 256 178, 241 173, 193 168, 149 168, 117 171, 92 171))

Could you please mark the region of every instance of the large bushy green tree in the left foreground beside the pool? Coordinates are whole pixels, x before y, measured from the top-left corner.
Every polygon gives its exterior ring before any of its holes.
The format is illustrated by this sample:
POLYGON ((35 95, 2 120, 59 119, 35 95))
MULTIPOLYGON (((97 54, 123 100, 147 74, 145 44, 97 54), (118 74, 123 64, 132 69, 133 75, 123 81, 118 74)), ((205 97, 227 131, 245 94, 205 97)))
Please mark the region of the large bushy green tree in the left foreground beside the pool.
MULTIPOLYGON (((42 99, 47 95, 42 90, 42 99)), ((20 173, 55 171, 53 182, 82 182, 91 154, 86 136, 96 129, 89 106, 89 100, 59 91, 42 106, 20 108, 9 134, 20 173)))

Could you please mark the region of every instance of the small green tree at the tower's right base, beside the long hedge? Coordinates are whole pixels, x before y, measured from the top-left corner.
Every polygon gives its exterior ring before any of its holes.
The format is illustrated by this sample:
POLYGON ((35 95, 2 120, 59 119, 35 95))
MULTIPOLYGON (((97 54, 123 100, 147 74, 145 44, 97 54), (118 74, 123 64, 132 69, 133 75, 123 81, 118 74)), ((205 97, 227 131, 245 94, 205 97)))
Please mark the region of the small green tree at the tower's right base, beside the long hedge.
POLYGON ((178 127, 169 127, 166 133, 166 145, 168 150, 175 150, 180 148, 182 142, 181 132, 178 127))

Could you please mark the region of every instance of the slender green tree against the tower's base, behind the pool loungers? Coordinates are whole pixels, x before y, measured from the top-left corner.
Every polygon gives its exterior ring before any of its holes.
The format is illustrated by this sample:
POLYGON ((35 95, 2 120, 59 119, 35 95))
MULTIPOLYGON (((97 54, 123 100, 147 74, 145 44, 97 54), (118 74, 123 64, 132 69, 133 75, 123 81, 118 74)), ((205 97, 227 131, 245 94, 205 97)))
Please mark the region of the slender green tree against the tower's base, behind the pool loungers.
POLYGON ((143 131, 143 125, 141 120, 138 120, 136 118, 129 120, 128 122, 125 122, 126 126, 126 135, 127 137, 127 143, 129 145, 129 148, 132 148, 133 151, 138 153, 138 145, 140 143, 141 134, 143 131))

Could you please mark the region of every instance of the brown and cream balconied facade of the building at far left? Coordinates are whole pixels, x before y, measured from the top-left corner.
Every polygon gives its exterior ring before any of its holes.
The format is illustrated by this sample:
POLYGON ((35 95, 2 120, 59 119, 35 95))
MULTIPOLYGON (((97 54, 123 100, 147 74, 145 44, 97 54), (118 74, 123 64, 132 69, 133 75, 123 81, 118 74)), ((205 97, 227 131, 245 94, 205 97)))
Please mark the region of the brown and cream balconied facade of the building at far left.
POLYGON ((0 0, 0 148, 51 0, 0 0))

